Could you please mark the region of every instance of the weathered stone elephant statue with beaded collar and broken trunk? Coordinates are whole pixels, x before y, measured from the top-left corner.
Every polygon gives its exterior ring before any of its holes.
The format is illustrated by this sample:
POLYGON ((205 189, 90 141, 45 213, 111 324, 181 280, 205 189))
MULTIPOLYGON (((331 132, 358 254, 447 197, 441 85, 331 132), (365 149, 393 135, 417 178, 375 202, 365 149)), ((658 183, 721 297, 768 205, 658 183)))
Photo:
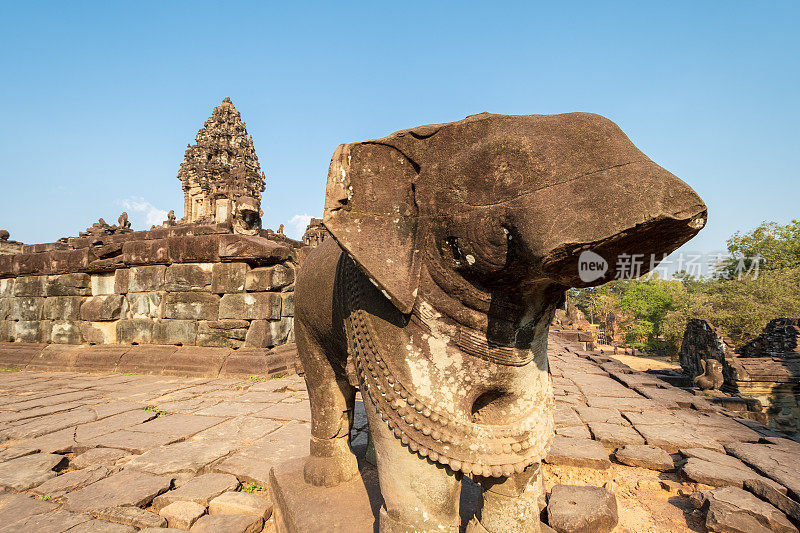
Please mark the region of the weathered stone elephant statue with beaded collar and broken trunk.
POLYGON ((646 272, 706 206, 599 115, 483 113, 339 146, 323 220, 333 238, 295 286, 306 482, 357 474, 358 388, 380 531, 457 532, 468 475, 483 487, 468 530, 506 533, 539 531, 547 335, 566 289, 613 279, 631 254, 646 272))

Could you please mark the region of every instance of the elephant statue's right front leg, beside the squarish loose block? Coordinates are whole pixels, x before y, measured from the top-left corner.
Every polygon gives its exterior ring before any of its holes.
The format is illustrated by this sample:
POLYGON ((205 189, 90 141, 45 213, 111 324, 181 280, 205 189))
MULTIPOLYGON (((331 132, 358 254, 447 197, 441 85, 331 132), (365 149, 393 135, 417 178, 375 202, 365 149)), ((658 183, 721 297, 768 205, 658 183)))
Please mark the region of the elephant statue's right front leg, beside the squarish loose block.
POLYGON ((468 533, 539 533, 539 512, 544 496, 539 464, 508 478, 478 479, 483 487, 480 521, 473 521, 468 533))

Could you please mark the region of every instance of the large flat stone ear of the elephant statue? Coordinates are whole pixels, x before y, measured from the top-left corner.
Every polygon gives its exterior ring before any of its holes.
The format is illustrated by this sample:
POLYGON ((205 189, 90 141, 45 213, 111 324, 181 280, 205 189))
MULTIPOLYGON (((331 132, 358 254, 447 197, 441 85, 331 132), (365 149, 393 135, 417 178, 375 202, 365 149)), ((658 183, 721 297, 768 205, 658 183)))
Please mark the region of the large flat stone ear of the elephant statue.
POLYGON ((325 195, 328 231, 402 313, 411 312, 419 284, 417 170, 387 144, 343 144, 325 195))

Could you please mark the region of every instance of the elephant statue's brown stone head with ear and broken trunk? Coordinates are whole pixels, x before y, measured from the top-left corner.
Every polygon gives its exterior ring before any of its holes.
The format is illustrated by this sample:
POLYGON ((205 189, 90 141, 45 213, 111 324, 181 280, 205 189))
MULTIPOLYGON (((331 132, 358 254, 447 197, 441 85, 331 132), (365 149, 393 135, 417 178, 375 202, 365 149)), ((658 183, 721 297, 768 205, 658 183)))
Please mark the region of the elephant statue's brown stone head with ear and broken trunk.
POLYGON ((606 118, 483 113, 339 146, 324 223, 409 313, 426 277, 472 310, 480 294, 552 303, 612 279, 625 254, 645 273, 705 219, 698 195, 606 118), (589 281, 587 250, 608 263, 589 281))

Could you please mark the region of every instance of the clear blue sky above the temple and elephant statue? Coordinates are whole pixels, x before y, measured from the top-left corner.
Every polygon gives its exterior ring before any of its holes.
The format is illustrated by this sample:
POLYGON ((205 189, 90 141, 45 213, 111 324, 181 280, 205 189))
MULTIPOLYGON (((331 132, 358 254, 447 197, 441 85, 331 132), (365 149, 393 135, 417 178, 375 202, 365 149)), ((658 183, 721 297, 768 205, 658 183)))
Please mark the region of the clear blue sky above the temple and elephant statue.
POLYGON ((320 216, 341 142, 481 111, 591 111, 709 207, 685 249, 800 217, 797 2, 7 2, 0 228, 182 215, 186 145, 230 96, 264 225, 320 216))

